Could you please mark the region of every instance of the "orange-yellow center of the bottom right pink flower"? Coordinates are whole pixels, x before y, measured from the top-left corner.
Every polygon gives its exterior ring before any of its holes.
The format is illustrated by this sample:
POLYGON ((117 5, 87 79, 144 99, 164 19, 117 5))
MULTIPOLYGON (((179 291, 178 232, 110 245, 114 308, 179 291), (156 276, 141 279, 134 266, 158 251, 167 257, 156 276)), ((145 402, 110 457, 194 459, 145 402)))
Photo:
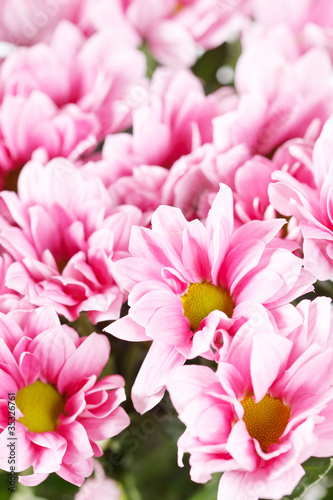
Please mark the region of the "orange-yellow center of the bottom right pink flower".
POLYGON ((259 403, 254 401, 253 396, 247 395, 241 404, 247 431, 252 438, 259 441, 261 449, 267 451, 271 444, 279 443, 290 417, 288 406, 281 399, 272 398, 269 394, 259 403))

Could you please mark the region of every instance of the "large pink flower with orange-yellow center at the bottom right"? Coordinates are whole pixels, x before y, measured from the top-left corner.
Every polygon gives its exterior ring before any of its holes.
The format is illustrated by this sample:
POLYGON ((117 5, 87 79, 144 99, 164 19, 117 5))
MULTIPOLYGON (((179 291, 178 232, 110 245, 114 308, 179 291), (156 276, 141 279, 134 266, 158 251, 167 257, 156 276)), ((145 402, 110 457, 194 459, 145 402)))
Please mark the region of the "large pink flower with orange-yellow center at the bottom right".
POLYGON ((183 366, 167 382, 186 425, 179 464, 189 452, 191 477, 199 483, 224 472, 218 500, 278 500, 292 493, 304 461, 332 456, 329 302, 302 305, 302 331, 289 338, 262 329, 236 334, 216 373, 183 366))

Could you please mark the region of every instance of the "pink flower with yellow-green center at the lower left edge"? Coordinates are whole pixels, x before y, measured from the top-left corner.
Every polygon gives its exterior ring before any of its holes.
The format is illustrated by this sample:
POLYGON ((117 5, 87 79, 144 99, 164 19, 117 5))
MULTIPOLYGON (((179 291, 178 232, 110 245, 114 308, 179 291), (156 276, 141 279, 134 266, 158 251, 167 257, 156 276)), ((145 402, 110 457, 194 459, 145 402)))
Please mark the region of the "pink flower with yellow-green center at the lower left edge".
POLYGON ((39 484, 55 472, 81 485, 93 471, 92 457, 102 455, 97 441, 129 424, 119 407, 123 378, 97 381, 109 359, 108 340, 97 333, 80 339, 47 308, 0 314, 0 324, 0 467, 9 470, 7 444, 14 432, 16 472, 33 467, 20 482, 39 484), (9 394, 16 403, 11 430, 9 394))

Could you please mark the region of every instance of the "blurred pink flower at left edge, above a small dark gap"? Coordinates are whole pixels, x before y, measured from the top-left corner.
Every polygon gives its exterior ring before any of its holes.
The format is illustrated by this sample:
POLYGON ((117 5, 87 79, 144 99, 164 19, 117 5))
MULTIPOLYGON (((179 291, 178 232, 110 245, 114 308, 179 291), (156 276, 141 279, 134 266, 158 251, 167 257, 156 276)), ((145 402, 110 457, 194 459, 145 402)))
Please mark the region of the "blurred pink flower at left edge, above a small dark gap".
POLYGON ((0 106, 0 172, 21 168, 31 158, 42 163, 96 147, 99 123, 93 113, 74 104, 58 109, 44 93, 29 97, 6 95, 0 106))

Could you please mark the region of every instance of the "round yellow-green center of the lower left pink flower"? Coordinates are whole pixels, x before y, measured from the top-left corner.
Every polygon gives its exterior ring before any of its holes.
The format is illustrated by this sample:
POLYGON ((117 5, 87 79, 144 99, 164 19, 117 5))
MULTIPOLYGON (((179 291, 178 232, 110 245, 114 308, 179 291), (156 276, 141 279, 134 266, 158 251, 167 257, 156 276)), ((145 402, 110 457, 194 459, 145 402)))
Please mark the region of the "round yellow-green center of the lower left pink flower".
POLYGON ((40 380, 18 391, 16 405, 24 415, 19 422, 32 432, 54 431, 65 408, 58 391, 40 380))

